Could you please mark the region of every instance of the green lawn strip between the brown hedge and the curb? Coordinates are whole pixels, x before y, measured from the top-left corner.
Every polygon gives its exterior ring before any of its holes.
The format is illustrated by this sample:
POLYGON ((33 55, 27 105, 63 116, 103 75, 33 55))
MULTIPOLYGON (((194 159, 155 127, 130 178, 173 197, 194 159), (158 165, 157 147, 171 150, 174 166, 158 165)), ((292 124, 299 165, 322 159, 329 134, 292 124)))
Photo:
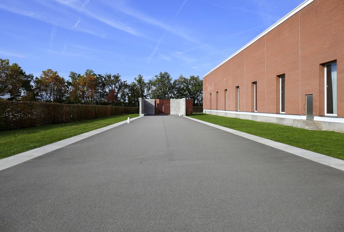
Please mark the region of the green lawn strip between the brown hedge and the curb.
POLYGON ((128 117, 138 116, 139 114, 115 115, 92 120, 0 131, 0 159, 125 121, 128 117))

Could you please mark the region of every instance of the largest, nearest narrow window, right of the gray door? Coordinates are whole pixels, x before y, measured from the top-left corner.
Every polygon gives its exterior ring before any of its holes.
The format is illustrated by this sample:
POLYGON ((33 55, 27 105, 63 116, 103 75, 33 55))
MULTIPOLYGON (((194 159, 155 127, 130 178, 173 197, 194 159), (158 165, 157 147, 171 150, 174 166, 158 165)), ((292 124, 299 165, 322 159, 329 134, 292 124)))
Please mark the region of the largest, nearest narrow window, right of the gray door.
POLYGON ((325 65, 325 114, 337 116, 337 63, 325 65))

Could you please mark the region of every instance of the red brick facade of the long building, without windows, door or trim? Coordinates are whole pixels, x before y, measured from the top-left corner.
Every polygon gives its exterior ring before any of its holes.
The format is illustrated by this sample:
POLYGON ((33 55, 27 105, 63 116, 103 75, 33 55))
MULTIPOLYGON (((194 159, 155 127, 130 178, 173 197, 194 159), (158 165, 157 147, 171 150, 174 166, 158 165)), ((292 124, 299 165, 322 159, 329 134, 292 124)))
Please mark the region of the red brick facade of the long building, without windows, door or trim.
POLYGON ((203 108, 280 112, 279 76, 286 77, 286 113, 305 115, 307 94, 313 114, 324 115, 324 64, 337 62, 337 116, 344 117, 344 4, 315 0, 203 78, 203 108), (216 98, 216 92, 217 98, 216 98), (210 93, 212 104, 210 105, 210 93))

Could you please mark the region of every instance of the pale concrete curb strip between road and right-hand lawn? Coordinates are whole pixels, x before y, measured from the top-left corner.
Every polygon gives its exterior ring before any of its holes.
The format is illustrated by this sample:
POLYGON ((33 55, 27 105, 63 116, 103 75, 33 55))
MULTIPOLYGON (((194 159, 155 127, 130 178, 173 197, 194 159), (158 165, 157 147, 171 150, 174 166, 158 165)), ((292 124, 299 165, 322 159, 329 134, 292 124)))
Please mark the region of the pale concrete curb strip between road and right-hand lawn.
POLYGON ((200 122, 200 123, 215 127, 217 129, 220 129, 223 131, 227 131, 227 132, 232 133, 232 134, 239 135, 241 137, 245 137, 246 139, 250 139, 250 140, 256 141, 258 143, 262 143, 262 144, 265 144, 265 145, 268 145, 271 147, 275 147, 279 150, 289 152, 291 154, 298 155, 298 156, 301 156, 301 157, 306 158, 306 159, 310 159, 310 160, 315 161, 317 163, 324 164, 324 165, 327 165, 327 166, 330 166, 330 167, 344 171, 344 161, 341 159, 333 158, 333 157, 319 154, 316 152, 311 152, 308 150, 304 150, 302 148, 293 147, 293 146, 290 146, 290 145, 287 145, 284 143, 279 143, 279 142, 275 142, 272 140, 264 139, 264 138, 256 136, 256 135, 247 134, 247 133, 241 132, 241 131, 236 131, 236 130, 229 129, 229 128, 226 128, 224 126, 219 126, 219 125, 216 125, 216 124, 213 124, 210 122, 205 122, 205 121, 190 118, 187 116, 183 116, 183 117, 194 120, 196 122, 200 122))

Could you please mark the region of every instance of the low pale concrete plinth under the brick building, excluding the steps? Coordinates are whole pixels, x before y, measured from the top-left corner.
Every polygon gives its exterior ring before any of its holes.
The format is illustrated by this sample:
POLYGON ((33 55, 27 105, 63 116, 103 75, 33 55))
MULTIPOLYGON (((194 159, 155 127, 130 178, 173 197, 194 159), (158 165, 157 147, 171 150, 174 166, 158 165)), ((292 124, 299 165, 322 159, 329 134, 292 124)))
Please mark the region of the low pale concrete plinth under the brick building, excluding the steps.
MULTIPOLYGON (((286 125, 286 126, 293 126, 297 128, 307 129, 306 125, 303 123, 305 120, 267 117, 267 116, 254 115, 254 114, 218 112, 218 111, 211 111, 211 110, 203 110, 203 113, 224 116, 224 117, 229 117, 229 118, 247 119, 247 120, 253 120, 253 121, 258 121, 258 122, 271 122, 271 123, 277 123, 277 124, 286 125)), ((314 122, 316 122, 320 126, 321 130, 323 131, 335 131, 335 132, 344 133, 344 123, 323 122, 323 121, 314 121, 314 122)))

